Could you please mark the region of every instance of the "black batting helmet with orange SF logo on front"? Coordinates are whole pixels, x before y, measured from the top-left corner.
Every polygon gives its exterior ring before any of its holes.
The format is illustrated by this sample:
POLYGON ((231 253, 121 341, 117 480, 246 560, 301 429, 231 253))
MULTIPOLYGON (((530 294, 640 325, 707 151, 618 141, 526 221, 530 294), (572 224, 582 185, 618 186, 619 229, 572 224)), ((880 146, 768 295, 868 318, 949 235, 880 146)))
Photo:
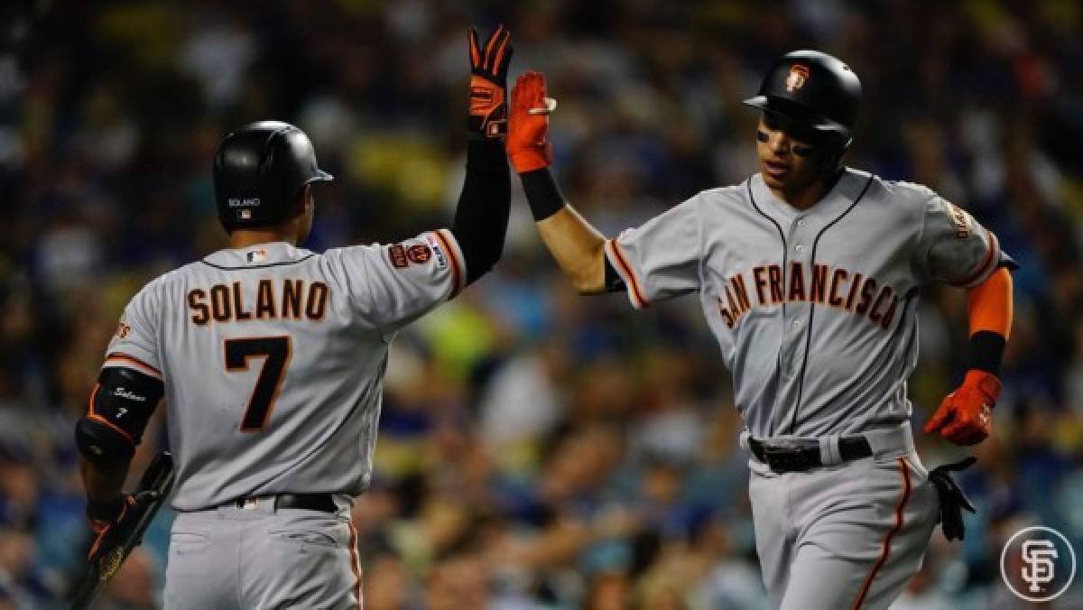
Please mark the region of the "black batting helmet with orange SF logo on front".
POLYGON ((850 66, 820 51, 775 60, 755 98, 744 101, 823 132, 849 146, 861 106, 861 80, 850 66))

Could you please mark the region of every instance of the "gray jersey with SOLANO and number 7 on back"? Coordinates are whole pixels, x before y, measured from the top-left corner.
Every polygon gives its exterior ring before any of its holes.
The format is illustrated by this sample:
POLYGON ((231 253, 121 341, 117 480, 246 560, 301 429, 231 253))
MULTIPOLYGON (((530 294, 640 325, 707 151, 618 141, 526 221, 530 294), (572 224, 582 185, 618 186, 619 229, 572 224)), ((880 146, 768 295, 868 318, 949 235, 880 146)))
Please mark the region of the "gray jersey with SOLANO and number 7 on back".
POLYGON ((173 507, 368 483, 388 346, 452 298, 461 251, 440 230, 314 254, 226 249, 147 284, 104 366, 165 382, 173 507))

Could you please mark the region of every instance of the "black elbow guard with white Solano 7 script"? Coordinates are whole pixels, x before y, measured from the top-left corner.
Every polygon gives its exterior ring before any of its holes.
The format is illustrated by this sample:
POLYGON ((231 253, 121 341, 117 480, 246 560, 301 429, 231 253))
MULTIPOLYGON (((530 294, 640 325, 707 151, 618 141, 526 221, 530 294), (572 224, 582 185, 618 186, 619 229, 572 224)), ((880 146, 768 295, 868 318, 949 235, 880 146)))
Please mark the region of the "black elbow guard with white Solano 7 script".
POLYGON ((94 465, 108 466, 131 459, 164 393, 160 379, 139 371, 102 369, 87 415, 76 425, 79 452, 94 465))

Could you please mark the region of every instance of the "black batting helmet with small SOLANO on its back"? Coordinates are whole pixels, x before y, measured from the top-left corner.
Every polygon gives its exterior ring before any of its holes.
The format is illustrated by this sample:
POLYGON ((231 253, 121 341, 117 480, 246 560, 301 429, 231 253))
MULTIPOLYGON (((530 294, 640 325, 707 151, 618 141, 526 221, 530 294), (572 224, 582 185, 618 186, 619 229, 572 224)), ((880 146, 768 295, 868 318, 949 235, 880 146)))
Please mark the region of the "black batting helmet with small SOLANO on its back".
POLYGON ((299 128, 277 120, 242 127, 214 154, 214 200, 226 231, 274 224, 296 211, 310 182, 332 180, 316 165, 312 142, 299 128))

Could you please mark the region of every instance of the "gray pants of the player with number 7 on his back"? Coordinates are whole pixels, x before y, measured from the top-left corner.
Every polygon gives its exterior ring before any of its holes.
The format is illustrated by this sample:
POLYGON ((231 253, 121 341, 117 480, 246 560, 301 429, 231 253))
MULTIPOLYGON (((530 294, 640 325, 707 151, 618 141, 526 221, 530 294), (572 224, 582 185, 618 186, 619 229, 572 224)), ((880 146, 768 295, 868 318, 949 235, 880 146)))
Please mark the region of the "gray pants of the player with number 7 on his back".
POLYGON ((169 610, 361 608, 349 508, 337 514, 246 508, 181 512, 166 569, 169 610))

